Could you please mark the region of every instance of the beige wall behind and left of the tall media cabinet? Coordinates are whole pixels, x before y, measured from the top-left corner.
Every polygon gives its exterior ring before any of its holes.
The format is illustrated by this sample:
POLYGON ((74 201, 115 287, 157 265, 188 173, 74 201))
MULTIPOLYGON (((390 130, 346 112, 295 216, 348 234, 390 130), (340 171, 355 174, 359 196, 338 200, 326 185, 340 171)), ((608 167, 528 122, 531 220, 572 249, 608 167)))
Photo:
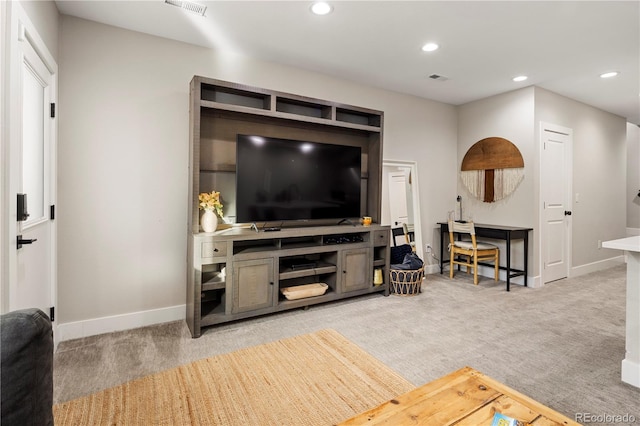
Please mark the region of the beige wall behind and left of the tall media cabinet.
POLYGON ((385 111, 384 157, 418 161, 424 223, 446 214, 455 191, 452 106, 68 16, 60 47, 63 324, 184 315, 195 74, 385 111))

